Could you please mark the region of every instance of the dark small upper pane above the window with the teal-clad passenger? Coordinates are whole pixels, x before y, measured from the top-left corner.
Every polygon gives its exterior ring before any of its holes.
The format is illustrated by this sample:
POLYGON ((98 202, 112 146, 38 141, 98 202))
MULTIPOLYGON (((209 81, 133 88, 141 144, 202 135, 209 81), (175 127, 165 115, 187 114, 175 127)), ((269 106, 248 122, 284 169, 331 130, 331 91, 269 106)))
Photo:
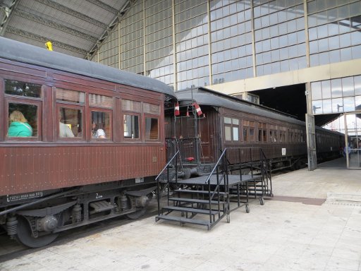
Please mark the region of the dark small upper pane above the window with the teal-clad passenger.
POLYGON ((5 93, 39 98, 42 96, 42 86, 16 80, 5 80, 5 93))

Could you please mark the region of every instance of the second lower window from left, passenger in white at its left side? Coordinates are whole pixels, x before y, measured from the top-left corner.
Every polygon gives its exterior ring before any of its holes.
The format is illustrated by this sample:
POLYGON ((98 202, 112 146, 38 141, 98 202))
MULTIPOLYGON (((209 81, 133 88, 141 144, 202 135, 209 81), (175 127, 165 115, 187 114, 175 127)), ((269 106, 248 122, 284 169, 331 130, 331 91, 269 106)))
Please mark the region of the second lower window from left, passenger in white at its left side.
POLYGON ((82 138, 82 110, 59 107, 60 138, 82 138))

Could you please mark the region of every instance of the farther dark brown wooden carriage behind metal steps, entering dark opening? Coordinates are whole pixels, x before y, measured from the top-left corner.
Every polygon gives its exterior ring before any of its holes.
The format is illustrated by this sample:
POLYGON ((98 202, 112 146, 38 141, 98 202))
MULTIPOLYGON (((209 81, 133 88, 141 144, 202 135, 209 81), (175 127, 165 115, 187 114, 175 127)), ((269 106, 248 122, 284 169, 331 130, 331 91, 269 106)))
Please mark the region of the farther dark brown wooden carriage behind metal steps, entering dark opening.
MULTIPOLYGON (((244 147, 243 162, 259 159, 261 147, 272 169, 299 168, 307 162, 304 122, 206 88, 178 91, 176 95, 181 112, 176 117, 173 112, 166 116, 168 157, 180 150, 185 177, 208 172, 226 147, 244 147), (257 151, 251 153, 252 147, 257 151)), ((317 128, 317 134, 322 134, 317 140, 320 157, 339 154, 341 133, 317 128)), ((228 161, 235 162, 237 155, 228 152, 228 161)))

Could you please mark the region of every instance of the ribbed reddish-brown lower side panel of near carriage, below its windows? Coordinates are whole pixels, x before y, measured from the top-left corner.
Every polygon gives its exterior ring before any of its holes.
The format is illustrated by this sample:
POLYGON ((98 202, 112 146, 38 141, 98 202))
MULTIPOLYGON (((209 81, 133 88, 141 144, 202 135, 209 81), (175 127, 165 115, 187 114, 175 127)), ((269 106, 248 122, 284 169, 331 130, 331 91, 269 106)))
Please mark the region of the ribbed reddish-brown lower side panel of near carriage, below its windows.
POLYGON ((0 195, 157 176, 163 145, 0 147, 0 195))

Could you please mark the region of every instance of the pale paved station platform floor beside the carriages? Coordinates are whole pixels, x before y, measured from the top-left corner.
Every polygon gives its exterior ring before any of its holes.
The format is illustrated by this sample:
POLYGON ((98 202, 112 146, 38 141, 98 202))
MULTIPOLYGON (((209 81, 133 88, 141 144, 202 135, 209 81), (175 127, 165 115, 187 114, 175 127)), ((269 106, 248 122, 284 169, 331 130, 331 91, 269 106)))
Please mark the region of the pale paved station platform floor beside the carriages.
POLYGON ((251 199, 250 213, 231 212, 210 231, 152 215, 44 248, 9 252, 18 245, 0 241, 0 270, 361 271, 360 170, 341 158, 273 176, 272 185, 264 205, 251 199))

